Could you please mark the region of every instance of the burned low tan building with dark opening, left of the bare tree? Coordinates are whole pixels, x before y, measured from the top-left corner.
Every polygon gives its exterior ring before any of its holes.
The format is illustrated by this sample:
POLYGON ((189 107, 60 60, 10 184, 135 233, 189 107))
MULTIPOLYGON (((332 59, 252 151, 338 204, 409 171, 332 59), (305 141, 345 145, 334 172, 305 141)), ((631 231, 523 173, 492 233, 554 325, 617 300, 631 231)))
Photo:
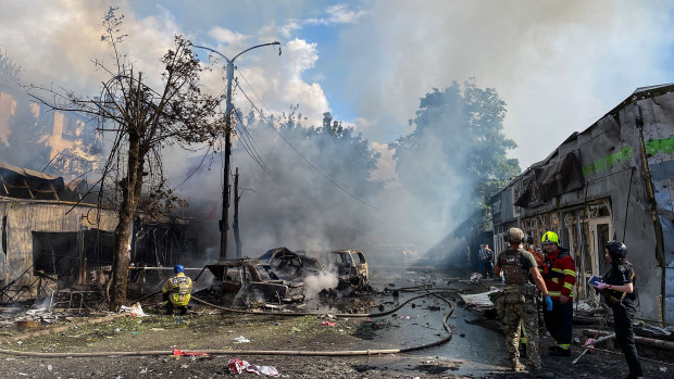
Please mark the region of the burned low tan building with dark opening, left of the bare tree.
POLYGON ((92 282, 110 264, 116 213, 86 193, 83 180, 0 163, 0 302, 92 282))

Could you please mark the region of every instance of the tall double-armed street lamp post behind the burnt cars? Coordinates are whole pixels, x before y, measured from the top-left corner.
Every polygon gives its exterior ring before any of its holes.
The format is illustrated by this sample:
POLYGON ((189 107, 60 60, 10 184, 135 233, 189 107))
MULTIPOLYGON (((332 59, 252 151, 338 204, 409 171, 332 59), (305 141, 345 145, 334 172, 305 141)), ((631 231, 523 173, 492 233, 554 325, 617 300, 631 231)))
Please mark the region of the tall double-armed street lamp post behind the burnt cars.
MULTIPOLYGON (((224 169, 224 187, 223 187, 223 214, 222 219, 220 220, 220 260, 227 258, 227 231, 229 230, 229 157, 232 155, 232 111, 234 105, 232 104, 232 80, 234 80, 234 61, 244 54, 247 51, 252 49, 261 48, 264 46, 280 46, 280 42, 270 42, 253 46, 252 48, 248 48, 240 53, 236 54, 233 59, 228 59, 223 55, 219 51, 215 51, 211 48, 207 48, 203 46, 195 46, 195 48, 204 49, 211 51, 220 56, 222 56, 226 62, 227 68, 227 106, 225 108, 225 167, 224 169)), ((280 52, 279 52, 280 55, 280 52)))

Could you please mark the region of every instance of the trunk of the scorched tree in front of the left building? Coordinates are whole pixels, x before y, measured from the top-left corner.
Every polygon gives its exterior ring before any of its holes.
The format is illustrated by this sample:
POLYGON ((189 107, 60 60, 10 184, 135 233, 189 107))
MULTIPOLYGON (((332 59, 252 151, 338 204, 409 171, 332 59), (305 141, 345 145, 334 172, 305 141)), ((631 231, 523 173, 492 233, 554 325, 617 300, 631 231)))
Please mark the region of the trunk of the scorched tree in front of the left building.
POLYGON ((140 138, 129 134, 127 153, 127 175, 122 182, 122 205, 120 207, 120 222, 114 229, 114 247, 112 258, 112 294, 110 311, 116 312, 126 303, 126 283, 128 279, 128 264, 130 256, 128 244, 130 243, 130 226, 138 207, 140 189, 142 188, 142 154, 140 152, 140 138))

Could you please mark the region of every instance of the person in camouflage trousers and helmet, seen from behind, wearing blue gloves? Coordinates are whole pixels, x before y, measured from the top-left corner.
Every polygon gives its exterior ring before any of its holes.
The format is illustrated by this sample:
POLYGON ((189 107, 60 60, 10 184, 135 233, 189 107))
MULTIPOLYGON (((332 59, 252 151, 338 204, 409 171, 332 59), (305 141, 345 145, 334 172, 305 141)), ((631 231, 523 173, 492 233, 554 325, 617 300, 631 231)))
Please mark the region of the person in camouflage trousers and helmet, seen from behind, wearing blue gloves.
POLYGON ((509 243, 509 248, 498 255, 495 274, 500 277, 502 273, 506 280, 503 287, 506 316, 503 321, 506 321, 506 343, 510 368, 514 371, 524 369, 520 363, 520 350, 517 349, 521 332, 520 321, 523 320, 524 328, 528 333, 527 365, 531 370, 540 370, 536 288, 542 293, 549 311, 552 311, 552 300, 548 295, 546 283, 540 277, 534 256, 522 249, 524 232, 519 228, 510 228, 503 239, 509 243))

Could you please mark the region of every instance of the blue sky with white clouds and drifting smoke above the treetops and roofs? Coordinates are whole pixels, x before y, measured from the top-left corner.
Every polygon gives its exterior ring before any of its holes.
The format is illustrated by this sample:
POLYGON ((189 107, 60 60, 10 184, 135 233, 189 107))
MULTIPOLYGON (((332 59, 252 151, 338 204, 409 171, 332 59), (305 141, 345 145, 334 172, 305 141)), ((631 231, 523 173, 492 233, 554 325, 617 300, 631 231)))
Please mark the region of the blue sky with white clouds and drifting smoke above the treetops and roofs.
POLYGON ((176 33, 227 56, 279 41, 280 56, 261 48, 236 61, 258 106, 299 103, 316 122, 329 111, 379 150, 412 131, 425 93, 475 78, 506 101, 504 131, 519 144, 510 155, 523 169, 637 87, 674 81, 674 1, 658 0, 3 0, 0 49, 25 81, 95 91, 109 7, 145 65, 176 33))

